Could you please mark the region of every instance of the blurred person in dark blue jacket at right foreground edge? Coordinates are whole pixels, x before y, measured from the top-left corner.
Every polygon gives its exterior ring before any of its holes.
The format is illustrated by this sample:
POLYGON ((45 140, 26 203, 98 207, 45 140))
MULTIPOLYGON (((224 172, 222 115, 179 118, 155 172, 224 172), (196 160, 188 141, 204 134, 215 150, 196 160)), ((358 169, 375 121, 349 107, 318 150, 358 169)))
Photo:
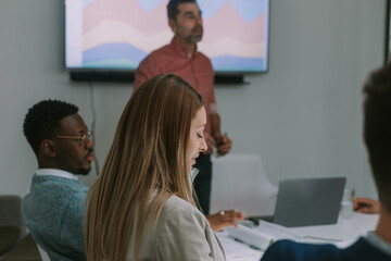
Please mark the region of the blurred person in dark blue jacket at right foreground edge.
POLYGON ((280 240, 262 261, 391 260, 391 63, 370 75, 364 94, 364 141, 380 202, 376 229, 345 249, 280 240))

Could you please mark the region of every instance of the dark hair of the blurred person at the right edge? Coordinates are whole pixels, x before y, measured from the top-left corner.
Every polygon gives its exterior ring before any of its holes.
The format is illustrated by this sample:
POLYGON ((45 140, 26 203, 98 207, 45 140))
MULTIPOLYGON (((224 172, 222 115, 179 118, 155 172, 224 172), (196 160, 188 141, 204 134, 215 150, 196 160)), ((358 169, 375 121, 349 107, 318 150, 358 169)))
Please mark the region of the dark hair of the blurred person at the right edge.
POLYGON ((364 139, 382 208, 391 212, 391 63, 364 86, 364 139))

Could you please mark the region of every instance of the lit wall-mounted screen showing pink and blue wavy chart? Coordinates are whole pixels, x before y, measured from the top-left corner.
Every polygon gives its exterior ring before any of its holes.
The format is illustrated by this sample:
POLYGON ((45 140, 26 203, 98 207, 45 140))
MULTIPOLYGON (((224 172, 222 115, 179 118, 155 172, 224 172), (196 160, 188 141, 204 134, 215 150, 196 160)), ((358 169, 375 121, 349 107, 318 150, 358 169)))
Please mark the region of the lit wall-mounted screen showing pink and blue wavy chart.
MULTIPOLYGON (((168 0, 65 0, 67 69, 135 71, 169 44, 168 0)), ((266 72, 269 0, 198 0, 216 73, 266 72)))

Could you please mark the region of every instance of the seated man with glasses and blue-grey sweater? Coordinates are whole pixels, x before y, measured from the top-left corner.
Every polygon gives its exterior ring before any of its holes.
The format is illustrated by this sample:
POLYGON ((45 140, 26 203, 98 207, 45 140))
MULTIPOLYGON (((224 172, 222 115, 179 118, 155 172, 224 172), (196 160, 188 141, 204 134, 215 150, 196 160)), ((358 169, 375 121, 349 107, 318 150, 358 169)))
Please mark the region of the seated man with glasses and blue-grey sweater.
POLYGON ((30 191, 23 198, 23 219, 51 260, 85 260, 84 201, 88 192, 77 175, 87 175, 93 160, 92 132, 64 101, 33 105, 23 130, 37 157, 30 191))

